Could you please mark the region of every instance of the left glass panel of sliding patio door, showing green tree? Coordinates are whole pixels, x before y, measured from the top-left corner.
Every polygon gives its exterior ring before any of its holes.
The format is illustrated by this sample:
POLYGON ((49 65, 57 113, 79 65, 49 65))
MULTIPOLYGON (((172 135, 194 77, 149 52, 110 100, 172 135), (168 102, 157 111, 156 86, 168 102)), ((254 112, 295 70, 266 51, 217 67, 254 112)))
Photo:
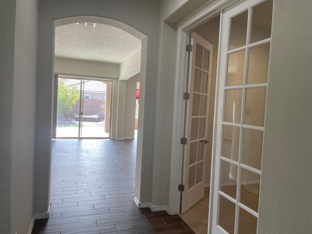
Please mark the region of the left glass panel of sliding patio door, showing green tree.
POLYGON ((56 137, 79 137, 80 79, 58 78, 56 137))

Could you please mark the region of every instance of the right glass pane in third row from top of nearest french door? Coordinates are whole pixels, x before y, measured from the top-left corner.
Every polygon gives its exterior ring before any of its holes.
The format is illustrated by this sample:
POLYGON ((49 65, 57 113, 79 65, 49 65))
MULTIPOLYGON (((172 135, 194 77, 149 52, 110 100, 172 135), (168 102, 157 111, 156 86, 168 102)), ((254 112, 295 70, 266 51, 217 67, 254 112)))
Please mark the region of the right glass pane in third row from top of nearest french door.
POLYGON ((264 126, 267 88, 247 89, 244 123, 254 126, 264 126))

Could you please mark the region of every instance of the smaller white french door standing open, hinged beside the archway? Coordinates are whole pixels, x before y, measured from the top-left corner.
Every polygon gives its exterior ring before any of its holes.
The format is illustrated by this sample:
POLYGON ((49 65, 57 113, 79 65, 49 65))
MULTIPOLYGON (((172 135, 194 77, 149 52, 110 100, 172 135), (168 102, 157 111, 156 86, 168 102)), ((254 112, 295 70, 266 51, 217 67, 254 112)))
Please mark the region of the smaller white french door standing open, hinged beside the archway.
POLYGON ((181 212, 185 213, 204 197, 206 143, 210 95, 210 74, 213 46, 196 33, 191 34, 193 50, 190 55, 186 109, 186 136, 181 212))

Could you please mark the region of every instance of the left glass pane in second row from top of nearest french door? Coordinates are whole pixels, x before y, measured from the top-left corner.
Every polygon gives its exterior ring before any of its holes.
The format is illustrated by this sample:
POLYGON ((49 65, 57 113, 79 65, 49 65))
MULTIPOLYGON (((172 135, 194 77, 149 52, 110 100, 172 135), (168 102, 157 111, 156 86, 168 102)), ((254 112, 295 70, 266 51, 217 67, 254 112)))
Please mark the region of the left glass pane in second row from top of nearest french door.
POLYGON ((226 86, 242 85, 244 81, 245 50, 229 55, 226 86))

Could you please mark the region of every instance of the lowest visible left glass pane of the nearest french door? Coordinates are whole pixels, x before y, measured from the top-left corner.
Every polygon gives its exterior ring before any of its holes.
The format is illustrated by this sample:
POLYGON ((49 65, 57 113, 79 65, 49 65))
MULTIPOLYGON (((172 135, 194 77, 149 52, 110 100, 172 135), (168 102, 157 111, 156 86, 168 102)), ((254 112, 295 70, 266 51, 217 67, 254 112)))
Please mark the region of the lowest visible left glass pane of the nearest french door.
POLYGON ((219 226, 229 234, 234 234, 235 204, 219 195, 219 226))

